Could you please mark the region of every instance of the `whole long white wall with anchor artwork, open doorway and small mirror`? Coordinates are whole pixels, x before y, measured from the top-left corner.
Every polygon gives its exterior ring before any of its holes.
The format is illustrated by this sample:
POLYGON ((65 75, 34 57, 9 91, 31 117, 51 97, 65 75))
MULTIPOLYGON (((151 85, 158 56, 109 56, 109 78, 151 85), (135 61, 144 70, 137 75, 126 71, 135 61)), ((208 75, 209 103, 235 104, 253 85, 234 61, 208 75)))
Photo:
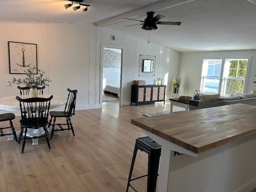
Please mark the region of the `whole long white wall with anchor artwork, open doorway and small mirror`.
POLYGON ((123 49, 122 105, 130 104, 133 80, 155 84, 156 78, 161 77, 163 84, 172 86, 170 81, 178 73, 180 52, 152 42, 148 44, 146 40, 107 27, 99 28, 94 24, 0 23, 0 28, 0 97, 18 95, 16 85, 6 87, 8 80, 25 76, 9 74, 8 41, 37 44, 38 68, 52 79, 44 93, 66 97, 67 88, 78 89, 76 109, 100 107, 102 44, 123 49), (115 35, 116 40, 111 41, 110 35, 115 35), (156 55, 154 77, 138 76, 140 54, 156 55), (168 79, 164 79, 166 73, 168 79))

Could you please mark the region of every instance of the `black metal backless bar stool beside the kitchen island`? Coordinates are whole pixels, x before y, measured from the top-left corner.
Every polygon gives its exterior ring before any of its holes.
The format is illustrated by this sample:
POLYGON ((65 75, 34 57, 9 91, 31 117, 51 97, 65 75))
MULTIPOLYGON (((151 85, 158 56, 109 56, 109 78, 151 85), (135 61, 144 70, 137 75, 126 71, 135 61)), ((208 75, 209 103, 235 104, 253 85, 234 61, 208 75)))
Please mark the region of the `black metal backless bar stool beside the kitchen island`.
POLYGON ((156 191, 156 181, 157 181, 157 176, 158 176, 158 166, 159 166, 160 155, 161 155, 161 146, 158 143, 156 143, 155 141, 153 141, 150 137, 141 137, 141 138, 136 139, 126 192, 128 192, 129 186, 134 191, 136 191, 134 189, 134 187, 131 186, 130 182, 133 180, 136 180, 136 179, 140 179, 145 176, 148 176, 147 192, 155 192, 156 191), (134 167, 134 162, 135 162, 135 158, 136 158, 138 149, 140 149, 148 154, 148 174, 131 179, 132 170, 134 167))

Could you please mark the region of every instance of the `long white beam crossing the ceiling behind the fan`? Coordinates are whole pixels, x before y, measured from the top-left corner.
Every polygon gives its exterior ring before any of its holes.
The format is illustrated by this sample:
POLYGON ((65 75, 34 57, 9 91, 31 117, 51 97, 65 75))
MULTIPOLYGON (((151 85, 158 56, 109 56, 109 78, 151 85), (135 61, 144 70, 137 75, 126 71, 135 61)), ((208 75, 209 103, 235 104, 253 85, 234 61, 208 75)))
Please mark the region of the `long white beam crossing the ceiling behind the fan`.
POLYGON ((122 22, 125 19, 123 18, 131 18, 131 17, 138 17, 138 16, 143 16, 146 15, 146 12, 149 11, 153 11, 153 12, 159 12, 162 10, 166 10, 166 9, 170 9, 172 7, 176 7, 176 6, 180 6, 182 4, 186 4, 186 3, 190 3, 196 0, 165 0, 150 6, 146 6, 144 8, 140 8, 138 10, 135 11, 131 11, 125 14, 121 14, 103 21, 100 21, 98 23, 96 23, 96 26, 98 27, 104 27, 104 26, 108 26, 114 23, 118 23, 118 22, 122 22))

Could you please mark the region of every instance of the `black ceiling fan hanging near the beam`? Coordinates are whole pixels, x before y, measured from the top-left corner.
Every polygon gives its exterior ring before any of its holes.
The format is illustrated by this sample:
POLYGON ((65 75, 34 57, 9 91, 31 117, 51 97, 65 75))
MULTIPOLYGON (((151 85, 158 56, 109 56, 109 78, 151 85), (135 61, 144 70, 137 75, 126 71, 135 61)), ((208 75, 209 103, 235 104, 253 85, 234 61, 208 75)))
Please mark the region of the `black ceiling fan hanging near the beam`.
MULTIPOLYGON (((141 28, 144 30, 156 30, 158 29, 158 25, 180 25, 181 22, 171 22, 171 21, 159 21, 160 19, 164 18, 164 15, 156 15, 154 16, 154 12, 147 12, 147 17, 144 21, 141 20, 136 20, 136 19, 130 19, 130 20, 135 20, 135 21, 140 21, 142 22, 141 24, 134 24, 134 25, 143 25, 141 28)), ((124 18, 124 19, 129 19, 129 18, 124 18)), ((133 25, 126 25, 126 26, 133 26, 133 25)))

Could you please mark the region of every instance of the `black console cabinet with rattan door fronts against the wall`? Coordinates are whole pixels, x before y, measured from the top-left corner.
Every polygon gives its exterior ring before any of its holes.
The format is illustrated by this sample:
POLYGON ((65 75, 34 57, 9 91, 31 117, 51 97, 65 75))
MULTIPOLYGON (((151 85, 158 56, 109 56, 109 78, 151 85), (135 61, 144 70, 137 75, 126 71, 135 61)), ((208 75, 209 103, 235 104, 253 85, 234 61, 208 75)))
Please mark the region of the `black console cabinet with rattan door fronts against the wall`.
POLYGON ((131 105, 165 102, 166 85, 132 85, 131 105))

